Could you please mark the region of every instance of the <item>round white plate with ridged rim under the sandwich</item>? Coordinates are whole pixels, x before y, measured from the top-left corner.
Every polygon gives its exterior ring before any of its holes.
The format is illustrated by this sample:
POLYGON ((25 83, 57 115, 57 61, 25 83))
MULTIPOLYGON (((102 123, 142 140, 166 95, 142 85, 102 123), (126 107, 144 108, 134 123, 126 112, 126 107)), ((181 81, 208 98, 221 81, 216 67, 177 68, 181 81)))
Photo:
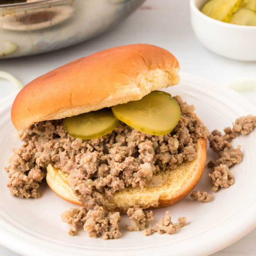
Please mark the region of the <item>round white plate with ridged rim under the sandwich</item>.
MULTIPOLYGON (((222 130, 236 118, 256 115, 256 107, 238 93, 222 88, 213 82, 188 75, 181 75, 180 85, 165 89, 172 95, 196 106, 196 113, 209 130, 222 130)), ((172 220, 187 216, 187 224, 174 235, 153 234, 145 237, 142 232, 124 229, 128 219, 122 215, 121 232, 117 240, 88 238, 80 230, 77 236, 66 234, 68 225, 62 223, 60 213, 72 207, 56 196, 44 184, 42 197, 20 199, 12 197, 6 188, 11 148, 21 143, 12 127, 10 110, 15 95, 0 102, 0 243, 26 256, 42 255, 209 255, 218 251, 256 227, 256 130, 240 136, 234 146, 242 145, 243 160, 231 168, 235 184, 220 189, 208 204, 193 202, 189 197, 173 206, 154 210, 155 220, 169 210, 172 220)), ((208 160, 215 155, 208 151, 208 160)), ((211 192, 206 167, 196 189, 211 192)))

